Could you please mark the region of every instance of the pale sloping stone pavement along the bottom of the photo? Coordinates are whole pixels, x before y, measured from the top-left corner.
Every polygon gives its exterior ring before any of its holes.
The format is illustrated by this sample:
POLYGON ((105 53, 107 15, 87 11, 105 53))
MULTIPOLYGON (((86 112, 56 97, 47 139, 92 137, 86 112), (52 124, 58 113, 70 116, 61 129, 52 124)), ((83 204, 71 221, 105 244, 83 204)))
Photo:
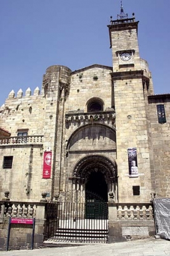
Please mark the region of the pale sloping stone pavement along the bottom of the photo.
POLYGON ((164 239, 142 239, 115 244, 95 244, 75 247, 52 247, 34 250, 0 252, 1 256, 163 256, 170 255, 170 241, 164 239))

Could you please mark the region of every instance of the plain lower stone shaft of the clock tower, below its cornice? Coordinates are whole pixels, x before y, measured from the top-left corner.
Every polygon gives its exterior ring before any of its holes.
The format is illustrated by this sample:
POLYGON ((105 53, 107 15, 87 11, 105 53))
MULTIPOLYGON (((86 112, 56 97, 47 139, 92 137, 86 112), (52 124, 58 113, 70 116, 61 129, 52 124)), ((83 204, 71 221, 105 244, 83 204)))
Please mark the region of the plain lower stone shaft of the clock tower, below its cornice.
POLYGON ((148 202, 152 187, 142 79, 115 80, 114 90, 119 202, 148 202), (137 148, 139 177, 129 177, 127 148, 137 148), (140 195, 133 195, 132 186, 140 186, 140 195))

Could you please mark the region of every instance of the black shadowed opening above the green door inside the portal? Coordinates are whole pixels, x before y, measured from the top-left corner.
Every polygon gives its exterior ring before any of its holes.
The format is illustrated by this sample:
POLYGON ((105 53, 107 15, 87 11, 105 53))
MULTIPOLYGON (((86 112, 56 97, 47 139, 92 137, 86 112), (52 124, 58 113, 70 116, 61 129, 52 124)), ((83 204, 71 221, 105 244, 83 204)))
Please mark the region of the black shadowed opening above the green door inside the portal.
POLYGON ((86 183, 86 198, 95 200, 98 202, 108 201, 108 187, 105 177, 100 171, 91 172, 89 179, 86 183), (90 193, 89 193, 90 192, 90 193))

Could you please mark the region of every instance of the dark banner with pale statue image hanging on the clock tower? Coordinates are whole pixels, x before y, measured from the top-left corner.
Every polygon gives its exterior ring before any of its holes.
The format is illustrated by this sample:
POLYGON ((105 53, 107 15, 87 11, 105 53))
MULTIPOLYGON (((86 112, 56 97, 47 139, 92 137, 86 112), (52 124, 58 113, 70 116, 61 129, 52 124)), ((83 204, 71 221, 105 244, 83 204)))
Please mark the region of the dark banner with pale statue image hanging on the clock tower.
POLYGON ((129 163, 129 177, 138 177, 138 167, 137 167, 137 149, 128 148, 128 163, 129 163))

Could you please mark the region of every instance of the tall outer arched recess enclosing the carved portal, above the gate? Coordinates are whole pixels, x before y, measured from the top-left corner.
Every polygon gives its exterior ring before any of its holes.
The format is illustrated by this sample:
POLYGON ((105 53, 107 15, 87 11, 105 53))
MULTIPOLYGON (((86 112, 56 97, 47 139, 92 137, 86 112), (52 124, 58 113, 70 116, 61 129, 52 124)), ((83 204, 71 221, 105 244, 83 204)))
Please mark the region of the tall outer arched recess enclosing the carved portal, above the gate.
POLYGON ((116 132, 113 127, 98 122, 76 129, 67 143, 68 178, 73 190, 87 194, 88 188, 100 194, 101 187, 105 190, 102 194, 105 201, 109 192, 117 194, 115 158, 116 132))

